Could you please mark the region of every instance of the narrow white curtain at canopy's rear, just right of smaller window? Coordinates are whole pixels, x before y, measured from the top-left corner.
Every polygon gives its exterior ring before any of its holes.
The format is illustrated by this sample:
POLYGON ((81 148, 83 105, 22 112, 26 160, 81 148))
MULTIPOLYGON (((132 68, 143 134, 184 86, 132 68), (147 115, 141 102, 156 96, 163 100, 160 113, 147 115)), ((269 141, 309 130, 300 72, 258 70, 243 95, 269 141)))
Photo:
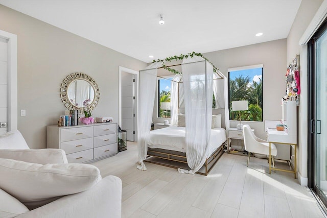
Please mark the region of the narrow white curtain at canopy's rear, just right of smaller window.
POLYGON ((172 90, 171 90, 171 96, 170 96, 170 102, 171 102, 171 125, 177 125, 177 117, 178 117, 178 89, 179 89, 179 82, 181 80, 181 75, 177 74, 172 80, 172 90))

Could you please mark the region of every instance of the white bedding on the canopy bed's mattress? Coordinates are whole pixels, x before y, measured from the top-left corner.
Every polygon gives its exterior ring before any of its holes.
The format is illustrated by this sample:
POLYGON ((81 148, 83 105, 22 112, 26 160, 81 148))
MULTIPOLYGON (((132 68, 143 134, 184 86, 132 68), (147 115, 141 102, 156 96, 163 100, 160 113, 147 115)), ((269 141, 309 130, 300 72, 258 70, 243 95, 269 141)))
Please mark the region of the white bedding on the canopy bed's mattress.
MULTIPOLYGON (((226 141, 226 130, 215 128, 211 130, 208 157, 226 141)), ((186 153, 185 127, 170 126, 150 131, 148 147, 152 149, 167 149, 186 153)))

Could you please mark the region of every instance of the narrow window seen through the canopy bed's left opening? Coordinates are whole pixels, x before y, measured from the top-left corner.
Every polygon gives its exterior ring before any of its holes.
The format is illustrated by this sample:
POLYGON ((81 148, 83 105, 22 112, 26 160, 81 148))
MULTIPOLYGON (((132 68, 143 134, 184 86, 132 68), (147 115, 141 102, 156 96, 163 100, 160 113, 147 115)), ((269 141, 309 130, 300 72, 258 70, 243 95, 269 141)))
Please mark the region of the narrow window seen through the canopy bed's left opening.
POLYGON ((158 117, 170 118, 170 91, 173 78, 158 80, 158 117))

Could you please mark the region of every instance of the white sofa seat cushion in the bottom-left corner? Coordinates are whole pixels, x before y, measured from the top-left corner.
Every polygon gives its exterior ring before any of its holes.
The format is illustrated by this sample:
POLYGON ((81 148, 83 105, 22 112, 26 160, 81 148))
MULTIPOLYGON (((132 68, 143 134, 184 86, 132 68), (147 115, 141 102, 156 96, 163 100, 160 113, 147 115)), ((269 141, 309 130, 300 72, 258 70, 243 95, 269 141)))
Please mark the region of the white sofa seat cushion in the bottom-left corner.
POLYGON ((28 211, 30 210, 24 204, 0 189, 0 217, 15 217, 28 211))

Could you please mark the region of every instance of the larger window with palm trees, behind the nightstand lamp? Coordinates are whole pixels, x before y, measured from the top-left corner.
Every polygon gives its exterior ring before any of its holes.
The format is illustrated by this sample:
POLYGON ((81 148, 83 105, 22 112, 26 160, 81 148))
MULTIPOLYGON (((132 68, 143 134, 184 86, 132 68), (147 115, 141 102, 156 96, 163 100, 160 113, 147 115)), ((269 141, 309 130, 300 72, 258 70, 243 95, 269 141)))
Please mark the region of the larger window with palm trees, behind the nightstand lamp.
POLYGON ((263 121, 263 65, 228 69, 229 119, 240 120, 239 111, 231 110, 231 102, 248 101, 241 120, 263 121))

